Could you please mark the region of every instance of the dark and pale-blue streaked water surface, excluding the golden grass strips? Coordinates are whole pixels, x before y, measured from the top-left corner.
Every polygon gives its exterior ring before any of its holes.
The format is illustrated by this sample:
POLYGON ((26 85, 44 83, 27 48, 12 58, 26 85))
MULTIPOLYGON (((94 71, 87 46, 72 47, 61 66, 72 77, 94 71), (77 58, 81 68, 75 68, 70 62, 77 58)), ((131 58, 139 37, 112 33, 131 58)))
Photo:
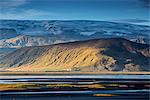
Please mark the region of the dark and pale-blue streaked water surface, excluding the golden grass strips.
POLYGON ((1 100, 149 100, 149 78, 150 75, 2 75, 0 85, 35 86, 23 91, 1 91, 0 97, 1 100), (46 87, 49 84, 58 86, 46 87), (105 88, 89 88, 92 85, 105 88))

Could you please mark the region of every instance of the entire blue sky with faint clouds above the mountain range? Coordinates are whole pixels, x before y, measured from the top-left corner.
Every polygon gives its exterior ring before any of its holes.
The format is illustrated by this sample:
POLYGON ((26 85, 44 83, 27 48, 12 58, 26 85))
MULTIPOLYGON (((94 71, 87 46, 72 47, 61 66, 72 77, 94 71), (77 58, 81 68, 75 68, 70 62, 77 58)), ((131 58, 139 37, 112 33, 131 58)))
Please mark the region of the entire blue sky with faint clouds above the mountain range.
POLYGON ((149 0, 0 0, 0 19, 147 21, 149 0))

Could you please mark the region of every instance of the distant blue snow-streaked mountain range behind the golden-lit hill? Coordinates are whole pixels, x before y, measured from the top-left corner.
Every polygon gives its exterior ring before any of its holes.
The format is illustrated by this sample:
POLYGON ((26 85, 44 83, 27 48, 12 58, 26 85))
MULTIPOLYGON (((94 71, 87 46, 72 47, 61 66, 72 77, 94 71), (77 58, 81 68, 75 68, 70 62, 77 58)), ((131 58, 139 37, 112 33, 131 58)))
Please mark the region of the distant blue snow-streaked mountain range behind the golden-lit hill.
POLYGON ((150 44, 150 26, 88 20, 0 20, 0 22, 0 48, 42 46, 112 37, 150 44))

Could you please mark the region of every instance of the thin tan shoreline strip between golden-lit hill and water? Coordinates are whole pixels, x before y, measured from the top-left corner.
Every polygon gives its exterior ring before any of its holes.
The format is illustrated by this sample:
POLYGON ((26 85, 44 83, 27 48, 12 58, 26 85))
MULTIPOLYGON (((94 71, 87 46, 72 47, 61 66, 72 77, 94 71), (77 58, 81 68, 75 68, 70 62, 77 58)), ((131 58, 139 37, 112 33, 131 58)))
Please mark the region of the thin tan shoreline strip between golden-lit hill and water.
POLYGON ((0 72, 0 75, 150 75, 150 72, 0 72))

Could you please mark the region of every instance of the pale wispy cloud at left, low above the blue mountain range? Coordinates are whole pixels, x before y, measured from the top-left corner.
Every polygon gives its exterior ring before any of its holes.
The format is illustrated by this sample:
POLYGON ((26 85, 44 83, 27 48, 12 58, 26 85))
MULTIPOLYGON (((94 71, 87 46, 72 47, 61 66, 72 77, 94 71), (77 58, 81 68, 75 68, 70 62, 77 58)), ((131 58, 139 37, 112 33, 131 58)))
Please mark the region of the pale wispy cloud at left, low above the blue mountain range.
POLYGON ((28 9, 28 10, 21 10, 16 11, 11 9, 7 12, 0 13, 0 19, 36 19, 41 16, 49 16, 54 15, 53 13, 47 13, 40 10, 35 9, 28 9))

